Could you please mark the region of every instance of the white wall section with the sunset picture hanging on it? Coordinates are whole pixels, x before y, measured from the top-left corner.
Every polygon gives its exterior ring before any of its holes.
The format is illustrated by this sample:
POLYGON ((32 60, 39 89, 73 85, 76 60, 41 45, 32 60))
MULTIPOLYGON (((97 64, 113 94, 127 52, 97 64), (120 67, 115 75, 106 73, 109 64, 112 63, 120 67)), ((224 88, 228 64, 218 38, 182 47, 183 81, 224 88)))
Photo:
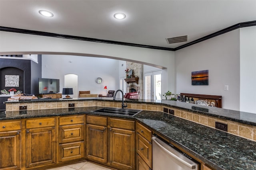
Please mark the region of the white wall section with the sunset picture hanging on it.
POLYGON ((239 29, 175 51, 175 72, 177 94, 219 95, 223 108, 239 110, 239 29), (191 85, 191 72, 200 70, 209 70, 208 86, 191 85))

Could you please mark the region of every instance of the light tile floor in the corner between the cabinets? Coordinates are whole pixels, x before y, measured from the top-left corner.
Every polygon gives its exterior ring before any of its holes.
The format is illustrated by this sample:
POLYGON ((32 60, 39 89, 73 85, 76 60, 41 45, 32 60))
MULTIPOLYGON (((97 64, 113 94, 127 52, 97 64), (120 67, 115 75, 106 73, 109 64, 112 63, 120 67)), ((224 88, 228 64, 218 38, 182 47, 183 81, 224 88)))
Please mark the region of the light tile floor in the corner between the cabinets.
POLYGON ((60 166, 57 168, 50 168, 47 170, 112 170, 112 169, 94 164, 92 162, 84 161, 84 162, 79 162, 76 164, 60 166))

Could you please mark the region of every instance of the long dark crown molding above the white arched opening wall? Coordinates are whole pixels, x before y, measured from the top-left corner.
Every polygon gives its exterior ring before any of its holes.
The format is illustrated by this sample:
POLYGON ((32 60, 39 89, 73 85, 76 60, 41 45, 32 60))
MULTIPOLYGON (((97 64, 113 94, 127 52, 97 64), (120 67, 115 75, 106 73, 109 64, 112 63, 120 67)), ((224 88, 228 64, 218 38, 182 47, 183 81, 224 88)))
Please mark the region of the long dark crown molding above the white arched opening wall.
POLYGON ((73 36, 73 35, 48 33, 48 32, 42 32, 42 31, 33 31, 33 30, 28 30, 28 29, 19 29, 19 28, 11 28, 11 27, 2 27, 2 26, 0 26, 0 31, 7 31, 7 32, 14 32, 14 33, 25 33, 25 34, 32 34, 32 35, 42 35, 42 36, 47 36, 47 37, 75 39, 75 40, 81 40, 81 41, 92 41, 92 42, 97 42, 97 43, 108 43, 108 44, 115 44, 115 45, 126 45, 126 46, 142 47, 142 48, 148 48, 148 49, 158 49, 158 50, 174 51, 173 48, 167 48, 167 47, 158 47, 158 46, 152 46, 152 45, 142 45, 142 44, 135 44, 135 43, 126 43, 126 42, 111 41, 111 40, 105 40, 105 39, 79 37, 79 36, 73 36))

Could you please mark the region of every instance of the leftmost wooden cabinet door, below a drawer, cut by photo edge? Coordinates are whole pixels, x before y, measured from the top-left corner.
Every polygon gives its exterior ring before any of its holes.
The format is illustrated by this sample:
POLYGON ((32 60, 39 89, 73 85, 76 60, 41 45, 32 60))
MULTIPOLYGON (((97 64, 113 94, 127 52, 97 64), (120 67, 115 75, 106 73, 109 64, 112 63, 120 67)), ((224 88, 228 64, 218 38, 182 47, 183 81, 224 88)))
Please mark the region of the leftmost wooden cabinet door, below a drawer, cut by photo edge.
POLYGON ((0 133, 0 170, 18 170, 20 168, 20 131, 0 133))

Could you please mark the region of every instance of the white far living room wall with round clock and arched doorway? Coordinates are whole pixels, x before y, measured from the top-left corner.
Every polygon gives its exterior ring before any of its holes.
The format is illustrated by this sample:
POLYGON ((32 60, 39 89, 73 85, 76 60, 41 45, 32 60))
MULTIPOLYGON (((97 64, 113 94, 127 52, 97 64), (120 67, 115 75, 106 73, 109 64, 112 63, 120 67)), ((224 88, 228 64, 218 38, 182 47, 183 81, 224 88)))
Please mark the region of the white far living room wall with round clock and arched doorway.
POLYGON ((78 91, 90 90, 91 94, 106 95, 104 86, 107 86, 108 90, 118 89, 118 63, 118 60, 98 57, 42 55, 42 78, 60 79, 60 92, 62 92, 64 75, 76 74, 78 91), (101 84, 96 83, 97 77, 102 78, 101 84))

